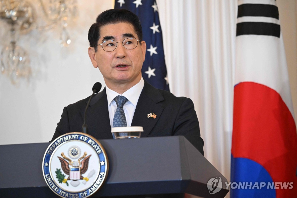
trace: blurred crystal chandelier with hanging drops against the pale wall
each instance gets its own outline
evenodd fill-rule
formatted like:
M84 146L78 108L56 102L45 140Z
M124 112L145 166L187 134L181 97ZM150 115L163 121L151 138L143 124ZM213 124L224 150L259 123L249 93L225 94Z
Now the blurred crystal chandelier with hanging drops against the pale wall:
M37 5L36 8L33 5ZM26 50L17 44L20 35L33 29L45 31L60 27L60 45L67 47L71 40L66 28L76 17L76 0L0 0L0 19L10 27L8 43L1 41L1 73L7 75L12 84L18 84L22 78L29 80L32 69Z

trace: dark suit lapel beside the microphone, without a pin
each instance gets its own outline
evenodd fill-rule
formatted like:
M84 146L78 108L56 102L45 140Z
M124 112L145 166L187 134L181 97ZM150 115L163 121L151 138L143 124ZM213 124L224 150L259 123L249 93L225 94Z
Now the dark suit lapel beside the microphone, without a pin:
M84 110L82 116L83 114ZM92 98L87 110L86 124L91 136L97 139L112 139L105 88Z

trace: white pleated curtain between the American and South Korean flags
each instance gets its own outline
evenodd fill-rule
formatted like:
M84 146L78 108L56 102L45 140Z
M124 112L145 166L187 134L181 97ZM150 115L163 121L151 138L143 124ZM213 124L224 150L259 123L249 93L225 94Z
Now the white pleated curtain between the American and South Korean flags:
M205 157L230 179L236 0L159 0L170 91L193 100Z

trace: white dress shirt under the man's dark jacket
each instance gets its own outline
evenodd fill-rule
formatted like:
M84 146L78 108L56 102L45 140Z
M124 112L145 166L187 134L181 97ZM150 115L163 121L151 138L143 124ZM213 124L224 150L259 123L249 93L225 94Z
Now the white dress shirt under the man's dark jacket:
M116 101L113 99L116 96L125 96L128 101L124 104L123 109L126 116L127 126L131 126L133 115L136 109L136 105L141 94L141 91L144 86L144 80L141 77L139 83L134 85L133 87L129 88L123 94L119 94L106 86L106 95L107 95L107 104L108 104L108 113L109 113L109 120L110 120L110 127L113 127L113 117L116 113Z

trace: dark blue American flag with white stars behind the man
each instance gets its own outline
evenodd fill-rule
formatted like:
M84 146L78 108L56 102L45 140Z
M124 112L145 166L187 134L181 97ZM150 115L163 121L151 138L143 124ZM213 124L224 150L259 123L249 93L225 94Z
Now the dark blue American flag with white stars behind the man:
M157 2L155 0L115 0L114 7L130 10L138 16L147 48L146 60L141 69L142 77L155 88L169 91Z

